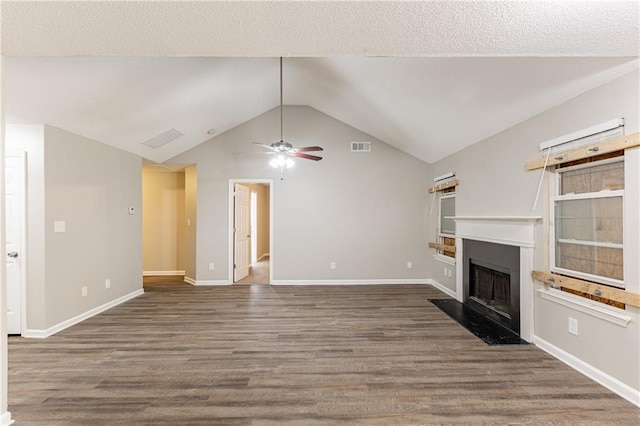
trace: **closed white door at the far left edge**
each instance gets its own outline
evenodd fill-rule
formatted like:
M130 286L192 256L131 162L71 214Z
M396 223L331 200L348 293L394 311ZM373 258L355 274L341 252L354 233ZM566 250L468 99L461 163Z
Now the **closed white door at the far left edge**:
M24 156L5 157L5 215L7 243L7 331L22 333L22 261L21 247L24 217Z

